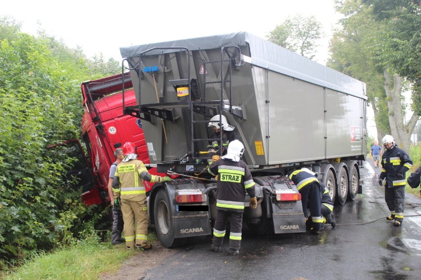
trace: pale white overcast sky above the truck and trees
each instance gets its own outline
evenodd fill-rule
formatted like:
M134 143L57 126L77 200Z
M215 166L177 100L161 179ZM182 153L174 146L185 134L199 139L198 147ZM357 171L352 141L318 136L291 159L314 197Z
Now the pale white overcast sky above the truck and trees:
M332 26L339 15L333 0L7 0L0 16L22 22L22 31L40 28L81 46L87 57L102 53L121 61L122 46L246 31L265 37L288 16L314 15L324 37L315 60L325 64Z

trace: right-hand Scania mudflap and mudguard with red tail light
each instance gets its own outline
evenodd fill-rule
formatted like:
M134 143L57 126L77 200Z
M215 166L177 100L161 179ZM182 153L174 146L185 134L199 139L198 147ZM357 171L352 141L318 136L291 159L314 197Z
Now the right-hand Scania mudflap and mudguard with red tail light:
M267 211L272 218L274 233L305 232L301 194L287 176L253 177L265 192Z

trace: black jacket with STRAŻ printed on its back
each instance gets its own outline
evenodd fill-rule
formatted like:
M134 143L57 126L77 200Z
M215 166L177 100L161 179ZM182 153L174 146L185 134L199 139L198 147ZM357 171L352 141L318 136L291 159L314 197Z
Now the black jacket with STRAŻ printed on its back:
M247 164L242 160L220 159L212 162L208 171L218 175L216 209L243 212L246 192L255 197L255 183Z

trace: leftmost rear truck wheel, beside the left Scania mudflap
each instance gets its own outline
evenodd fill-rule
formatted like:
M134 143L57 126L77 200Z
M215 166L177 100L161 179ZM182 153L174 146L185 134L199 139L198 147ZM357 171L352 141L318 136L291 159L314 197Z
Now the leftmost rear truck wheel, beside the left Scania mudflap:
M184 245L186 239L174 238L174 226L168 201L167 193L160 190L155 198L154 217L155 228L161 244L166 248L172 248Z

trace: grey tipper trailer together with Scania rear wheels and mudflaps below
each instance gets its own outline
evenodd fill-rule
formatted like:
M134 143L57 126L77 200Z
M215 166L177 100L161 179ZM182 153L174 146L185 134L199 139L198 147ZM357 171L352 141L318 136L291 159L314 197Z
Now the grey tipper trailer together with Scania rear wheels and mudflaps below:
M244 221L256 233L305 231L299 197L281 198L298 193L287 177L294 169L316 172L337 204L362 192L365 83L246 32L120 50L138 102L125 111L142 119L151 166L184 178L154 185L149 196L164 245L211 234L216 183L206 151L217 114L245 146L259 203L246 207Z

